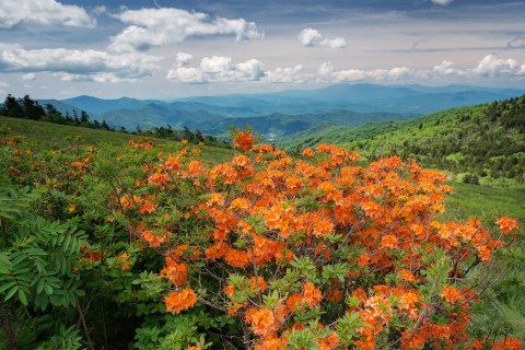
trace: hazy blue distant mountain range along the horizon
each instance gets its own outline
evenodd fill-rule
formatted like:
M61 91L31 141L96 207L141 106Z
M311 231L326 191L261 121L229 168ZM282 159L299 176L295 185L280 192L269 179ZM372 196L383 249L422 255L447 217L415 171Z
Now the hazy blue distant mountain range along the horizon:
M470 85L374 85L336 84L316 90L290 90L264 94L197 96L166 102L121 97L103 100L78 96L42 100L62 113L85 110L92 119L133 130L171 125L220 135L231 125L250 124L273 140L331 122L359 126L405 120L452 107L505 100L524 91Z

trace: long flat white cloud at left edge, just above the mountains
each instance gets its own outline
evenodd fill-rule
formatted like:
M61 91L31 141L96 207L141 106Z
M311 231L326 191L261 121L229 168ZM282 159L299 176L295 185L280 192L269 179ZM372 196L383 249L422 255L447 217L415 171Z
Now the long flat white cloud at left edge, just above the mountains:
M69 81L136 80L152 75L160 60L162 57L143 54L112 55L66 48L26 50L20 45L0 45L0 71L56 72Z

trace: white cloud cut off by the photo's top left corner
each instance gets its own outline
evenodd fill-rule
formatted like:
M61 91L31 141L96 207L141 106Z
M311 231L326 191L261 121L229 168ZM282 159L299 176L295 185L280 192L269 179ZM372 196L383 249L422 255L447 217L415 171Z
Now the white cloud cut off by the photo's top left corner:
M2 0L0 2L0 30L19 24L93 26L84 9L61 4L55 0Z

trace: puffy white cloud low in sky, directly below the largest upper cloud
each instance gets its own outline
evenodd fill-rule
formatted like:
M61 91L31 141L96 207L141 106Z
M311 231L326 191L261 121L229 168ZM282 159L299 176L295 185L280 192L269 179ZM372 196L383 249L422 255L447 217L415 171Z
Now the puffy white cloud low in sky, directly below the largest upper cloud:
M202 58L198 68L179 61L174 66L166 78L183 83L259 81L266 75L262 62L256 59L235 65L230 57L212 56Z

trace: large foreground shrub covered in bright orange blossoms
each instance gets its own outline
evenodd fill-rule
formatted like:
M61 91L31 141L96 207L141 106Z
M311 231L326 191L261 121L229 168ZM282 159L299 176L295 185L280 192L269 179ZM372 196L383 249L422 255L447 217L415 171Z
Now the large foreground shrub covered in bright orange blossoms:
M237 130L241 153L211 167L186 147L160 154L148 191L116 199L164 256L166 311L228 313L253 349L491 346L468 339L469 308L515 220L440 221L445 175L399 158L360 166L335 145L293 159L253 142Z

